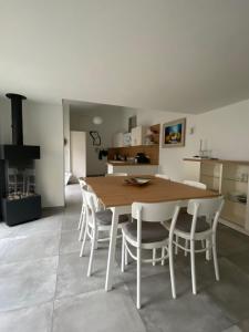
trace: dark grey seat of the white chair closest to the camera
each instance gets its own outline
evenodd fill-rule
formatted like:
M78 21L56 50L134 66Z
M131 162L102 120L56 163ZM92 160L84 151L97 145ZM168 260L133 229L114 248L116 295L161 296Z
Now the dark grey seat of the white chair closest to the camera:
M124 234L133 241L137 240L137 222L127 222L122 226ZM142 243L160 242L168 238L167 229L160 222L143 222L142 224Z

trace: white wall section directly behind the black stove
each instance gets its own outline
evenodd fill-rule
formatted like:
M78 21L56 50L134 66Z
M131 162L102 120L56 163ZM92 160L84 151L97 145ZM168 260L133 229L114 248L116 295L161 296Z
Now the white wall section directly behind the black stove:
M0 98L1 144L11 143L10 102ZM23 103L24 144L40 145L35 162L37 191L43 207L64 205L63 194L63 114L61 105L27 101Z

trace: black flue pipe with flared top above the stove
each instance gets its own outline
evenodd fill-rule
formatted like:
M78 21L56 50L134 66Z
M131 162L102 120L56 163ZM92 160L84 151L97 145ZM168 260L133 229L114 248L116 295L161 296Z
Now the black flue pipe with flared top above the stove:
M22 101L27 97L15 93L7 93L6 96L11 100L12 144L23 145Z

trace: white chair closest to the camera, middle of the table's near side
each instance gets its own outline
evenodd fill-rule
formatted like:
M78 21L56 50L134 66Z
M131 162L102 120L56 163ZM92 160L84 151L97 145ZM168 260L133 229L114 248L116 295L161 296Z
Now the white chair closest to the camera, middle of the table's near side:
M125 251L127 250L129 256L136 260L137 263L137 297L136 307L141 308L141 263L160 261L164 262L168 258L167 245L168 245L168 231L162 225L167 219L177 219L179 206L177 203L134 203L132 205L132 217L135 219L133 222L122 225L122 271L125 268ZM131 247L136 249L136 253L133 253ZM142 250L154 250L160 248L162 256L159 258L142 259ZM174 269L172 266L173 253L169 252L170 261L170 280L172 292L175 298L175 278Z

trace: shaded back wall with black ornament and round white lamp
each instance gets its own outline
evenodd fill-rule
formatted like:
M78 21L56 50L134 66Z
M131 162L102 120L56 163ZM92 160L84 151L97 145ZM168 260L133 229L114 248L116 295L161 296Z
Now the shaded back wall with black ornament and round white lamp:
M102 106L101 108L72 110L70 112L71 131L82 131L86 133L86 174L98 175L107 173L106 158L98 159L98 151L112 146L113 134L125 132L127 127L124 122L124 112L122 107ZM94 125L92 120L94 115L103 118L103 124ZM102 144L94 146L89 134L90 131L97 131Z

